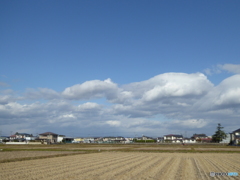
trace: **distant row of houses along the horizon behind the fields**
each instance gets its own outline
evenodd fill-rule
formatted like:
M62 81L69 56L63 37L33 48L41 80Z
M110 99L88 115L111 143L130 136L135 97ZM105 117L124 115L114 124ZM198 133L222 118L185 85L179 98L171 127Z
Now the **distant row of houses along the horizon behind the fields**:
M0 139L1 140L1 139ZM27 133L15 133L8 137L9 141L40 141L42 143L132 143L132 142L158 142L158 143L210 143L211 136L206 134L193 134L191 138L184 138L178 134L168 134L164 137L152 138L148 136L125 138L122 136L107 136L107 137L66 137L52 132L45 132L35 137ZM220 143L239 144L240 143L240 129L227 134L227 138Z

